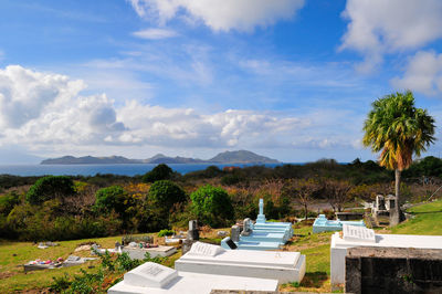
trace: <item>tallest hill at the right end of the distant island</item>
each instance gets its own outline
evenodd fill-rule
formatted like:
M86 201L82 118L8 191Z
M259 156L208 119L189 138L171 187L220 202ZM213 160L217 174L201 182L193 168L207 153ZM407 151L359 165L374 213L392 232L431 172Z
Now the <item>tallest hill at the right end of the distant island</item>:
M209 159L213 164L278 164L276 159L261 156L248 150L225 151Z

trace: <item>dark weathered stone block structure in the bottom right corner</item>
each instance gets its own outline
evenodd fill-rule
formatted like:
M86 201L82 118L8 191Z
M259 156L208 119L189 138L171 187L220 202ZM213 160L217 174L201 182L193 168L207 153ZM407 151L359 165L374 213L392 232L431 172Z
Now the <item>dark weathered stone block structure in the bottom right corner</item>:
M350 293L442 293L442 250L351 248L345 280Z

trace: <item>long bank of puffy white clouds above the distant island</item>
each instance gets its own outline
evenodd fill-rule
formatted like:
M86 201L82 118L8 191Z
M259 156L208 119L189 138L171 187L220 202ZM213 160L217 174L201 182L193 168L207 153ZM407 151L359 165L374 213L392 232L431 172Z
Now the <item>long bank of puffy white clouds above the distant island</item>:
M250 146L277 141L308 126L308 119L254 111L200 114L128 99L122 107L105 94L82 96L83 81L19 65L0 71L1 144L48 149L63 146ZM55 148L55 147L54 147Z

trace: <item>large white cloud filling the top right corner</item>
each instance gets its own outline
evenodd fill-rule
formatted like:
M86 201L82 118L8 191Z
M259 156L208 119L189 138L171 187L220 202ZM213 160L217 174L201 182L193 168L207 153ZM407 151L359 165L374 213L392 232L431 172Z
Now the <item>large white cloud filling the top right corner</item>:
M361 71L370 71L386 53L419 49L442 36L440 0L348 0L349 20L340 49L365 55Z

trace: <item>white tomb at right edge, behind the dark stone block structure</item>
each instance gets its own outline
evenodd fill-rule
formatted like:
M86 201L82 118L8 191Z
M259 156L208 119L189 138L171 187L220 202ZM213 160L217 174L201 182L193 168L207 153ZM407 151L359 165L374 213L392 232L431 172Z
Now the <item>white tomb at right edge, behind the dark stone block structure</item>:
M347 249L358 246L442 249L442 235L377 234L364 227L344 224L343 235L332 235L332 285L345 283Z

